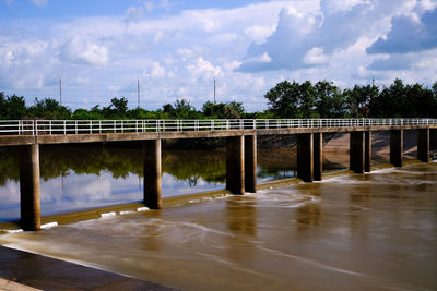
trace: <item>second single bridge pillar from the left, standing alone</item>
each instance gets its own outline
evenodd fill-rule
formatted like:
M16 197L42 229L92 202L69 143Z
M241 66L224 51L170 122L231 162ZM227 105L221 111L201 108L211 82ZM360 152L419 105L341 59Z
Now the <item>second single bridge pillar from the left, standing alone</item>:
M161 209L162 178L161 178L161 140L143 141L144 159L144 205L150 209Z

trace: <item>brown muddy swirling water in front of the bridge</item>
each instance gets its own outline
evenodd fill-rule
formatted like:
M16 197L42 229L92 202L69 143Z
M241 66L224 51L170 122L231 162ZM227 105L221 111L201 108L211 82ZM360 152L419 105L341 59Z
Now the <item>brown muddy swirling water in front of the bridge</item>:
M437 163L3 234L0 244L184 290L436 290Z

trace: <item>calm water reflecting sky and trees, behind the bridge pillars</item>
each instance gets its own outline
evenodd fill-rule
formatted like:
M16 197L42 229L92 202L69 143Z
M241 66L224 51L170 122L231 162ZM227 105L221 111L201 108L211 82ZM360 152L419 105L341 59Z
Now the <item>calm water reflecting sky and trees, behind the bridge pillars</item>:
M259 150L258 181L295 175L287 149ZM0 147L0 221L20 217L20 173L15 148ZM139 148L40 146L42 215L142 201L143 162ZM327 170L347 167L326 159ZM225 187L224 149L163 150L163 196Z

